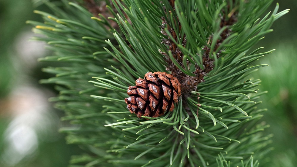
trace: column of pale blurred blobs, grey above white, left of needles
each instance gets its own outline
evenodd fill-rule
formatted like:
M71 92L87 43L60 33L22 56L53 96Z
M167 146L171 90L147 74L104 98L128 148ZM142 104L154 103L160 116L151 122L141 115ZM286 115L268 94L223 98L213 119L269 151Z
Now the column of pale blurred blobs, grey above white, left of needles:
M22 160L36 155L39 142L59 138L59 117L49 111L51 93L24 86L31 82L26 73L37 65L37 58L46 53L45 42L29 42L33 35L36 36L30 30L20 33L14 44L17 54L12 52L17 55L12 58L18 76L13 76L14 90L8 97L8 110L13 119L4 132L4 151L0 154L0 164L6 166L19 166Z

